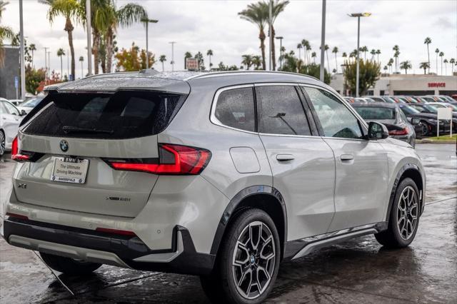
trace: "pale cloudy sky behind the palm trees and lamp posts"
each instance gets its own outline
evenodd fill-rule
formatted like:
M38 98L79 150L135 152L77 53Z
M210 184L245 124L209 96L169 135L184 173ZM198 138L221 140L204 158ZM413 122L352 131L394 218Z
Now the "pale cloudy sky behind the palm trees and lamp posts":
M9 0L2 24L19 31L19 0ZM143 5L151 19L159 19L158 24L149 27L149 50L158 57L166 55L165 69L171 69L171 45L176 41L175 69L184 68L184 52L192 54L208 49L214 51L212 62L217 65L240 65L241 54L260 54L258 30L256 26L243 21L237 13L252 1L152 1L116 0L117 6L128 2ZM46 19L48 7L37 0L24 0L24 32L28 44L36 44L35 66L44 66L44 46L51 50L51 69L60 69L56 56L59 48L68 49L68 39L64 31L64 19L57 19L52 26ZM456 0L390 0L390 1L348 1L328 0L326 14L326 44L333 49L338 46L338 64L341 64L343 51L350 53L356 48L357 22L347 16L351 12L369 11L373 15L361 19L361 46L381 50L381 64L384 66L393 57L392 47L400 47L400 61L409 60L413 72L421 73L419 64L427 61L426 45L423 40L431 37L431 71L436 71L435 49L443 51L443 59L457 59L457 1ZM75 26L74 46L76 59L86 57L86 34L79 24ZM296 45L301 39L311 42L313 51L318 53L321 37L321 1L291 0L275 24L276 34L283 36L283 46L298 54ZM128 48L132 42L141 48L146 47L145 29L140 24L126 29L118 29L117 41L120 47ZM278 46L277 46L278 48ZM369 56L369 55L368 55ZM335 59L329 53L330 67L334 69ZM438 61L439 61L438 57ZM205 56L205 64L208 66ZM86 65L86 62L85 62ZM155 65L161 70L161 64ZM76 76L81 75L81 65L76 61ZM84 67L86 70L86 66ZM84 71L86 73L86 71ZM403 71L404 73L404 71ZM411 71L410 71L411 73ZM438 73L441 64L438 62ZM443 67L444 73L444 67ZM64 74L66 60L64 59ZM447 67L451 74L451 67Z

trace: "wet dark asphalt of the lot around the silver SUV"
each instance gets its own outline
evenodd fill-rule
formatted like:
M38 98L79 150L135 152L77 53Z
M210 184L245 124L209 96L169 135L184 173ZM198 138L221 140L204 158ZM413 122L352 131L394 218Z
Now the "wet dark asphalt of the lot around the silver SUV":
M426 168L426 208L416 239L387 250L372 236L281 264L270 303L457 303L456 145L418 144ZM6 156L8 157L8 156ZM0 199L14 163L0 163ZM102 266L59 278L30 250L0 239L0 303L208 303L199 278Z

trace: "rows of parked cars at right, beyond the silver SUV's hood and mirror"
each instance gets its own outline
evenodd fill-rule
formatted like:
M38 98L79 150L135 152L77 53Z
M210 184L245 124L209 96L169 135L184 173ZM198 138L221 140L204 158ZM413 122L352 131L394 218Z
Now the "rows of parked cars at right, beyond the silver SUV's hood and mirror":
M417 136L431 136L438 128L438 108L451 108L457 132L457 101L450 96L344 97L366 121L384 123L389 135L414 146ZM440 133L451 131L451 120L439 122Z

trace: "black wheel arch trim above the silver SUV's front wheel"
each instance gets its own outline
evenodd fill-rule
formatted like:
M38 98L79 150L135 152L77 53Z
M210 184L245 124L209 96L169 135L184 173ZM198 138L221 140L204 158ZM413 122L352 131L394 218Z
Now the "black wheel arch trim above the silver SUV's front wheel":
M425 181L423 181L421 169L414 163L406 163L403 165L397 173L395 181L393 182L393 187L391 191L391 196L388 201L388 208L386 214L386 221L388 222L391 216L391 208L393 205L393 200L395 199L395 194L398 188L398 185L403 181L405 178L411 178L419 190L419 203L420 203L420 211L421 215L423 212L423 207L425 204Z

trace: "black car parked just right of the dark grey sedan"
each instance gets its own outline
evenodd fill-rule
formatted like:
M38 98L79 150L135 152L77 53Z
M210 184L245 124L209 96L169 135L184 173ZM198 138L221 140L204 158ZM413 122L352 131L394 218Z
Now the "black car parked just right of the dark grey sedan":
M435 113L421 113L418 109L405 103L398 103L398 107L405 113L411 124L414 126L418 124L421 127L421 136L436 134L438 115ZM451 121L440 121L440 133L448 133L449 131L451 131Z

